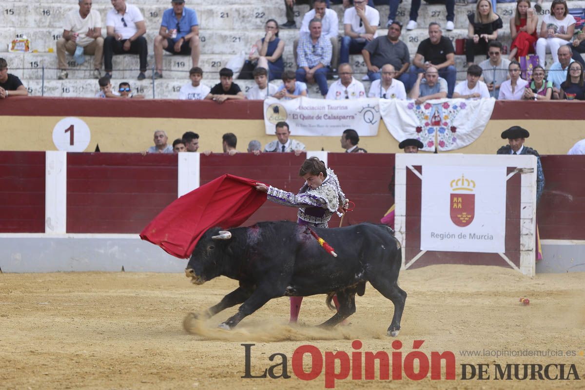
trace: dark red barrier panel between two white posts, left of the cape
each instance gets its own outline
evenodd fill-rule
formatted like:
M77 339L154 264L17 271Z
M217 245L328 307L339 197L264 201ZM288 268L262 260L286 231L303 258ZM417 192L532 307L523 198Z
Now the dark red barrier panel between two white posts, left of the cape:
M174 154L67 154L68 233L139 233L174 199Z

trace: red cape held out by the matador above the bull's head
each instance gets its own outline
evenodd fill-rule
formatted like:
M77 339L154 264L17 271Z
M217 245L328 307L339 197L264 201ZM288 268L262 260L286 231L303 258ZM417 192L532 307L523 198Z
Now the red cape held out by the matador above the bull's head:
M239 226L266 201L256 181L225 174L178 198L140 233L140 238L178 258L188 258L210 227Z

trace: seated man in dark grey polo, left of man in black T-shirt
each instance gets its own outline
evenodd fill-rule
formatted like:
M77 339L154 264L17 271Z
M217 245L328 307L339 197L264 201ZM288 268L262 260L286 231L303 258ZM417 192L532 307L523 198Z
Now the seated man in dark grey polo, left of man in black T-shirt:
M380 69L386 64L391 64L396 71L394 78L402 81L404 88L409 91L411 87L408 75L410 54L408 46L400 40L401 32L400 22L392 22L388 27L387 36L377 37L368 43L362 50L362 56L370 81L378 80L381 77Z

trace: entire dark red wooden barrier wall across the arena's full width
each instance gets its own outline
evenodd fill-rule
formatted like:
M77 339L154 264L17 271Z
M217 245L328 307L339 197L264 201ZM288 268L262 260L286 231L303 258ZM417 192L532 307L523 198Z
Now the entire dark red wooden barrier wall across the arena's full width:
M302 185L298 168L304 158L304 154L201 156L201 184L229 172L295 192ZM388 190L394 154L329 153L328 159L347 198L356 203L343 225L378 222L394 202ZM0 151L0 232L44 232L44 160L44 152ZM543 156L542 165L546 186L537 213L541 238L584 240L585 156ZM69 153L67 166L70 233L138 233L177 196L174 155ZM509 186L514 183L508 181ZM519 194L508 195L508 218L518 211L510 196ZM408 206L407 229L417 230L420 203L410 192L407 198L414 205ZM280 219L296 220L296 210L267 202L246 225ZM330 226L339 226L339 218L334 216ZM518 231L519 226L508 225L507 230Z

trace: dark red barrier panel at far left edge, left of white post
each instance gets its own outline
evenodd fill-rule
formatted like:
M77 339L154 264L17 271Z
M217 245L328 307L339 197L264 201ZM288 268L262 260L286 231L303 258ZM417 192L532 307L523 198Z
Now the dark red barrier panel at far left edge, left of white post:
M0 152L0 233L44 233L44 156Z

